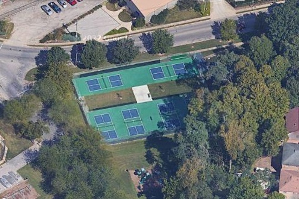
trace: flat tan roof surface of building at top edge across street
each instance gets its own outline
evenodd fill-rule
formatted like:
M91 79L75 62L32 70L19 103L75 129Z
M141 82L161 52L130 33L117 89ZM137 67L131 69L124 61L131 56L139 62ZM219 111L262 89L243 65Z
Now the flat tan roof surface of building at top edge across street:
M132 0L140 12L147 16L158 8L172 2L173 0ZM155 13L158 14L158 13Z

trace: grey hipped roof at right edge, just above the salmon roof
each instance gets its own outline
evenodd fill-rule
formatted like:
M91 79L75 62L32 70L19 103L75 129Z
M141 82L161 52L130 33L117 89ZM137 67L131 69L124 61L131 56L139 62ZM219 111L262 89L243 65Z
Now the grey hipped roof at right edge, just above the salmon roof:
M299 166L299 144L285 143L283 145L282 164Z

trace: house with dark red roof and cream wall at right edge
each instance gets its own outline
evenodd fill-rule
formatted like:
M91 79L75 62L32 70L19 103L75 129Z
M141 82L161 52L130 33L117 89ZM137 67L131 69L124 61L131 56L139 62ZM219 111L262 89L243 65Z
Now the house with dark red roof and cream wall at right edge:
M290 109L286 114L286 129L289 131L287 142L299 143L299 107Z

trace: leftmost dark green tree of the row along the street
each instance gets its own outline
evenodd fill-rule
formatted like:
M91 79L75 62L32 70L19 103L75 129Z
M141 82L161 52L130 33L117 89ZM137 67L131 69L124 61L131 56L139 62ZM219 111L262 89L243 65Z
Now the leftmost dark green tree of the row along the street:
M47 65L67 63L70 60L69 54L59 46L52 47L47 53Z

